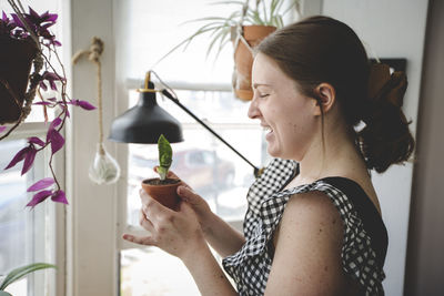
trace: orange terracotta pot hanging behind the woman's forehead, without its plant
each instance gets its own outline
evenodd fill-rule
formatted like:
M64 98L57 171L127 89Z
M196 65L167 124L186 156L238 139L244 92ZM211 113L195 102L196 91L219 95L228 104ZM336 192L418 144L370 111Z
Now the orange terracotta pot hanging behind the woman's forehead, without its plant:
M265 37L276 30L272 25L243 25L243 37L251 48L258 45ZM235 41L235 27L232 28L232 41ZM235 45L235 44L234 44ZM251 89L251 68L253 65L253 54L250 49L240 40L234 49L234 73L233 90L234 95L241 100L250 101L253 98Z

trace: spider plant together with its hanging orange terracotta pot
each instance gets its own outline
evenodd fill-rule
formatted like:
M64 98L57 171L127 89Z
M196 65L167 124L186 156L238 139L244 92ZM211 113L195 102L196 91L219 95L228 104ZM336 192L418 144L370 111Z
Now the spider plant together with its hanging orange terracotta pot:
M284 8L286 3L287 7ZM266 35L284 25L283 17L285 14L292 10L299 13L300 0L230 0L214 2L214 4L230 4L236 8L226 18L205 17L192 20L191 22L202 23L202 27L164 54L159 62L179 48L186 49L188 44L199 35L210 35L206 54L215 50L215 58L231 41L234 47L232 78L234 94L241 100L251 100L253 98L251 89L252 49Z

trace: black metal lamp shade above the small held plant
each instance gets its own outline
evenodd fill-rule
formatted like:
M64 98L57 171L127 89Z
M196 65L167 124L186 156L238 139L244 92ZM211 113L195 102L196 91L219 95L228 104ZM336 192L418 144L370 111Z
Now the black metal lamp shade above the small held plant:
M183 141L180 122L158 105L155 92L141 92L138 104L114 119L109 139L123 143L154 144L161 134L170 143Z

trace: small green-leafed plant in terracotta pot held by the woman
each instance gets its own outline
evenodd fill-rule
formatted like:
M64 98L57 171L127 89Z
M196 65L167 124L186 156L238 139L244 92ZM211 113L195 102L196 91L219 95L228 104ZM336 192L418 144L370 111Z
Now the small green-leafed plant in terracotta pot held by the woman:
M168 177L173 159L173 150L163 134L159 136L158 149L159 166L157 172L159 177L143 180L142 188L159 203L175 211L180 202L178 187L182 182L179 178Z

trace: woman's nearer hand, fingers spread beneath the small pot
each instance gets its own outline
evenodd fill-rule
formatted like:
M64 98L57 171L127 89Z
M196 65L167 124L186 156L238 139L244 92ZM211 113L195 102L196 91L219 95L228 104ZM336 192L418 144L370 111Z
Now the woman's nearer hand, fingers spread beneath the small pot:
M140 191L140 197L142 201L140 225L151 234L147 236L124 234L124 239L160 247L181 259L192 256L196 249L206 247L198 216L188 203L181 202L179 211L175 212L157 202L143 190Z

